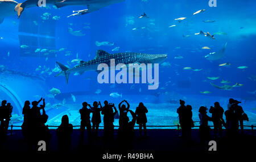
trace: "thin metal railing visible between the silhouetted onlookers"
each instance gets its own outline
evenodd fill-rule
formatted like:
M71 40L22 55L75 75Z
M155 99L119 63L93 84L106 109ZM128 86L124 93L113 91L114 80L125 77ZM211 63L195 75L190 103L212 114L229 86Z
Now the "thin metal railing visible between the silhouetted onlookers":
M210 127L213 127L213 125L209 125ZM13 127L22 127L22 126L17 126L17 125L10 125L11 127L11 135L13 135ZM47 127L59 127L59 126L49 126L47 125ZM80 125L75 125L73 127L80 127ZM99 127L104 127L104 126L99 126ZM114 127L119 127L119 126L114 126ZM139 126L134 126L134 127L139 127ZM177 133L178 135L180 134L180 125L147 125L147 127L177 127ZM200 126L194 126L194 127L200 127ZM251 133L252 135L254 135L254 125L243 125L243 127L251 127Z

